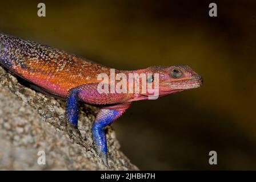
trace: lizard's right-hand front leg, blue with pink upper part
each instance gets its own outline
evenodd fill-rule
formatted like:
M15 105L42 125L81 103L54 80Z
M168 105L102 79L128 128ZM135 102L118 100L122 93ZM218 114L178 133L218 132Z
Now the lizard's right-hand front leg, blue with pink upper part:
M105 127L110 125L115 119L120 117L122 113L130 106L130 103L119 104L116 106L103 107L99 110L97 117L93 123L92 134L95 149L101 156L105 166L107 165L107 142L105 135Z

